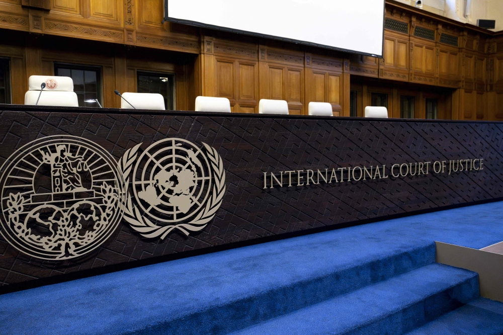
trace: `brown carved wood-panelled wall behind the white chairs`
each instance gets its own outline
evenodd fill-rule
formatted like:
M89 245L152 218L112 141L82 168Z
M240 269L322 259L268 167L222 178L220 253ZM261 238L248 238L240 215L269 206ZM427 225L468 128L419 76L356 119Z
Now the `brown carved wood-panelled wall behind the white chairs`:
M291 114L307 114L314 101L350 116L353 99L363 116L374 96L400 117L401 98L412 97L418 119L434 99L440 119L503 120L503 35L393 0L386 1L383 59L162 19L163 0L0 0L10 102L24 102L30 75L54 75L55 63L71 63L101 68L104 107L120 106L116 89L137 92L138 71L155 71L176 75L178 110L209 96L228 98L240 113L279 99Z

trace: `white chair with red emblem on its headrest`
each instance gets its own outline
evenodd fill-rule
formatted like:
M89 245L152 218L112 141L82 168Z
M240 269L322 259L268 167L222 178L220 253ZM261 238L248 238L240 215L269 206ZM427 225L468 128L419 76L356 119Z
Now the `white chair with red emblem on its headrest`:
M41 85L45 88L40 94ZM28 78L28 92L25 94L25 105L78 107L78 99L73 92L73 80L70 77L31 75Z

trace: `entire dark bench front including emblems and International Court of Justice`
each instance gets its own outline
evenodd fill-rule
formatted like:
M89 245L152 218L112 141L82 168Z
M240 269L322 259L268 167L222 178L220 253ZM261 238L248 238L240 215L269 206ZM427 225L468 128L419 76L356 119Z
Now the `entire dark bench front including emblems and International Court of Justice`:
M4 289L503 193L497 122L73 111L0 115Z

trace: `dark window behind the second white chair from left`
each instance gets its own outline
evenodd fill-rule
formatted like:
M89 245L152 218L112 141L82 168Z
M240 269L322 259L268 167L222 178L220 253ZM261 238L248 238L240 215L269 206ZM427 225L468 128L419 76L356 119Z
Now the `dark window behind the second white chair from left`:
M138 71L138 93L158 93L164 97L166 110L175 108L175 75Z

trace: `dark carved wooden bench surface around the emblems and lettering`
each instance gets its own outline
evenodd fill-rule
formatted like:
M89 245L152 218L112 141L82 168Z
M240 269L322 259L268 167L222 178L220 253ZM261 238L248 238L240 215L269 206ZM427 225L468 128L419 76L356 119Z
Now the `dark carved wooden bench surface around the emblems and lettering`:
M48 111L48 112L43 112ZM0 112L0 164L44 136L79 136L115 159L165 138L216 149L226 192L215 217L186 236L144 238L122 220L93 252L62 261L29 257L0 238L0 286L70 272L184 253L238 241L356 223L363 219L503 197L503 124L470 121L384 120L194 112L171 114ZM117 113L117 114L115 114ZM264 173L382 166L483 158L475 172L263 189Z

